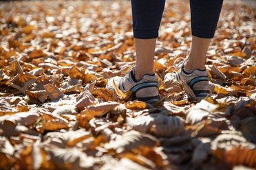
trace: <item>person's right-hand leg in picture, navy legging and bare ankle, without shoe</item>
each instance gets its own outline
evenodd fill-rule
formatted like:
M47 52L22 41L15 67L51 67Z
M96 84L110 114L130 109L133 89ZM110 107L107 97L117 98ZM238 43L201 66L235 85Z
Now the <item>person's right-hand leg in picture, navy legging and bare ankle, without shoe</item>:
M190 0L192 45L185 70L205 69L206 53L215 34L223 0Z

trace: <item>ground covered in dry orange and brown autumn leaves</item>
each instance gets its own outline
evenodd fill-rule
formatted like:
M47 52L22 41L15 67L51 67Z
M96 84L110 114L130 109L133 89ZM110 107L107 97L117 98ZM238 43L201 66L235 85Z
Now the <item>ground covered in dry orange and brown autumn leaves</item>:
M255 5L224 3L198 104L171 77L187 1L164 10L156 106L105 88L135 61L129 1L1 2L0 23L0 169L256 169Z

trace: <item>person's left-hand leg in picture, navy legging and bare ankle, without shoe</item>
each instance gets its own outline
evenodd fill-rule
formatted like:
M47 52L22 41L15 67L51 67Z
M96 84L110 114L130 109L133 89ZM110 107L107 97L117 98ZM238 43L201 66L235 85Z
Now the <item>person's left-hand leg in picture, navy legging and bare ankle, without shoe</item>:
M136 49L135 77L153 74L156 38L165 0L131 0Z

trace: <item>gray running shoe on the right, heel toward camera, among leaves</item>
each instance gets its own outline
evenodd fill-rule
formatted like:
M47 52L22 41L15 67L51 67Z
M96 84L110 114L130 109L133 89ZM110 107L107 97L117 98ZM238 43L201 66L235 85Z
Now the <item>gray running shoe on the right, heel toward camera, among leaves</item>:
M182 59L182 62L178 62ZM195 69L192 73L186 73L184 71L184 58L178 58L173 63L175 70L178 72L175 73L175 78L182 85L183 90L191 97L192 101L200 101L201 99L206 98L211 94L209 86L209 75L208 72L200 69Z

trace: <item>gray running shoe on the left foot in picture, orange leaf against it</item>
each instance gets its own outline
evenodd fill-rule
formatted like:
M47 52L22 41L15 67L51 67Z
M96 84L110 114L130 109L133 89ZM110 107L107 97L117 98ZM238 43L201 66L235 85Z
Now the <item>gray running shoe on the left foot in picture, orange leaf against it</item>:
M127 69L125 66L122 67L121 71ZM125 77L111 77L107 82L106 88L109 90L114 90L113 80L116 86L122 91L122 93L127 93L131 91L131 95L127 100L145 101L149 104L156 104L161 101L159 90L158 90L158 76L156 74L149 75L145 74L140 80L136 80L134 75L134 67L131 67L125 73Z

